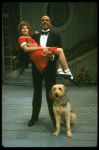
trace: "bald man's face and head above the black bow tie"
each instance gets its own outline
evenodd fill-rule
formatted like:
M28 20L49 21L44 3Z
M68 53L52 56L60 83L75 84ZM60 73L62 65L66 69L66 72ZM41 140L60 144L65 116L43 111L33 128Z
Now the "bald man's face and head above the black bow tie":
M43 16L41 18L41 24L40 25L42 26L42 29L44 31L46 31L47 29L49 29L50 26L51 26L50 18L48 16Z

